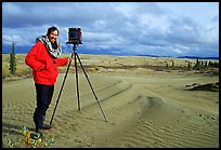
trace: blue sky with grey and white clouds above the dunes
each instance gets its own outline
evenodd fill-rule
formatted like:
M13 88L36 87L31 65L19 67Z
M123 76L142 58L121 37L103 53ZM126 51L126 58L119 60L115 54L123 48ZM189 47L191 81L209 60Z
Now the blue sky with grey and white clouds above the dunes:
M2 2L2 53L28 53L51 26L63 53L219 57L219 2Z

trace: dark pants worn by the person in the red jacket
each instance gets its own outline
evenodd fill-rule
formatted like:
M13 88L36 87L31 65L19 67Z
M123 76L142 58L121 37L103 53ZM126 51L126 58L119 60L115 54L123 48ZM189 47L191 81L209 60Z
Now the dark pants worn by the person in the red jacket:
M54 92L54 85L35 84L37 107L34 112L34 122L36 124L36 131L40 129L40 126L46 117L46 112L51 104L51 99Z

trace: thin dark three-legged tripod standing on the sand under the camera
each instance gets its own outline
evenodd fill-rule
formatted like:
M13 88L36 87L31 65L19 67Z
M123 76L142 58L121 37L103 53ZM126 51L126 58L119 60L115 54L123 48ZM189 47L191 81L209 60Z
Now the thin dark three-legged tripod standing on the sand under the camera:
M77 44L78 44L78 43L73 43L73 44L74 44L74 46L73 46L72 59L73 59L73 56L75 55L75 69L76 69L76 84L77 84L78 111L80 111L80 98L79 98L79 87L78 87L77 59L78 59L78 62L80 63L80 67L81 67L81 69L83 70L83 73L84 73L84 76L86 76L86 79L88 80L88 83L89 83L89 85L90 85L90 87L91 87L91 91L93 92L94 98L96 99L96 103L98 103L98 105L99 105L99 107L100 107L100 109L101 109L101 112L102 112L102 114L103 114L105 121L107 122L108 120L106 119L106 117L105 117L105 114L104 114L104 111L103 111L103 109L102 109L102 107L101 107L101 105L100 105L100 101L98 100L96 94L95 94L95 92L94 92L94 90L93 90L93 87L92 87L92 85L91 85L91 82L90 82L90 80L89 80L89 78L88 78L88 74L86 73L86 70L84 70L84 68L83 68L83 66L82 66L82 63L81 63L81 60L80 60L80 57L78 56L78 53L77 53ZM60 97L61 97L61 94L62 94L62 90L63 90L63 87L64 87L64 83L65 83L66 78L67 78L67 73L68 73L68 70L69 70L69 66L70 66L70 64L72 64L72 59L69 60L69 64L68 64L68 66L67 66L67 70L66 70L66 73L65 73L65 77L64 77L64 81L63 81L63 83L62 83L62 87L61 87L61 90L60 90L60 94L58 94L58 97L57 97L57 100L56 100L56 105L55 105L55 108L54 108L54 111L53 111L53 114L52 114L52 118L51 118L50 125L52 124L53 117L54 117L54 113L55 113L55 111L56 111L56 107L57 107L57 105L58 105L58 100L60 100Z

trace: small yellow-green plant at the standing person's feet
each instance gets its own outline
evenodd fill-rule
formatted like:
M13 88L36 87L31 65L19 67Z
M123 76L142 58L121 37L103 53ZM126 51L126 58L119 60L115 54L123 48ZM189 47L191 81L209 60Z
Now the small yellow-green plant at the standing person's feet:
M55 142L54 138L51 140L46 140L40 138L40 135L32 134L27 126L22 128L22 134L24 135L25 146L30 148L47 148Z

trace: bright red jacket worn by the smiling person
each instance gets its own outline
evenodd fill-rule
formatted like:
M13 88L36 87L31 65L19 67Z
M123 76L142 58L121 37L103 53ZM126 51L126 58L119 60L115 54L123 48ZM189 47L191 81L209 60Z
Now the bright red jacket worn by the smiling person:
M53 85L58 76L57 67L67 65L68 58L52 57L44 44L38 41L26 55L25 63L32 69L35 83Z

